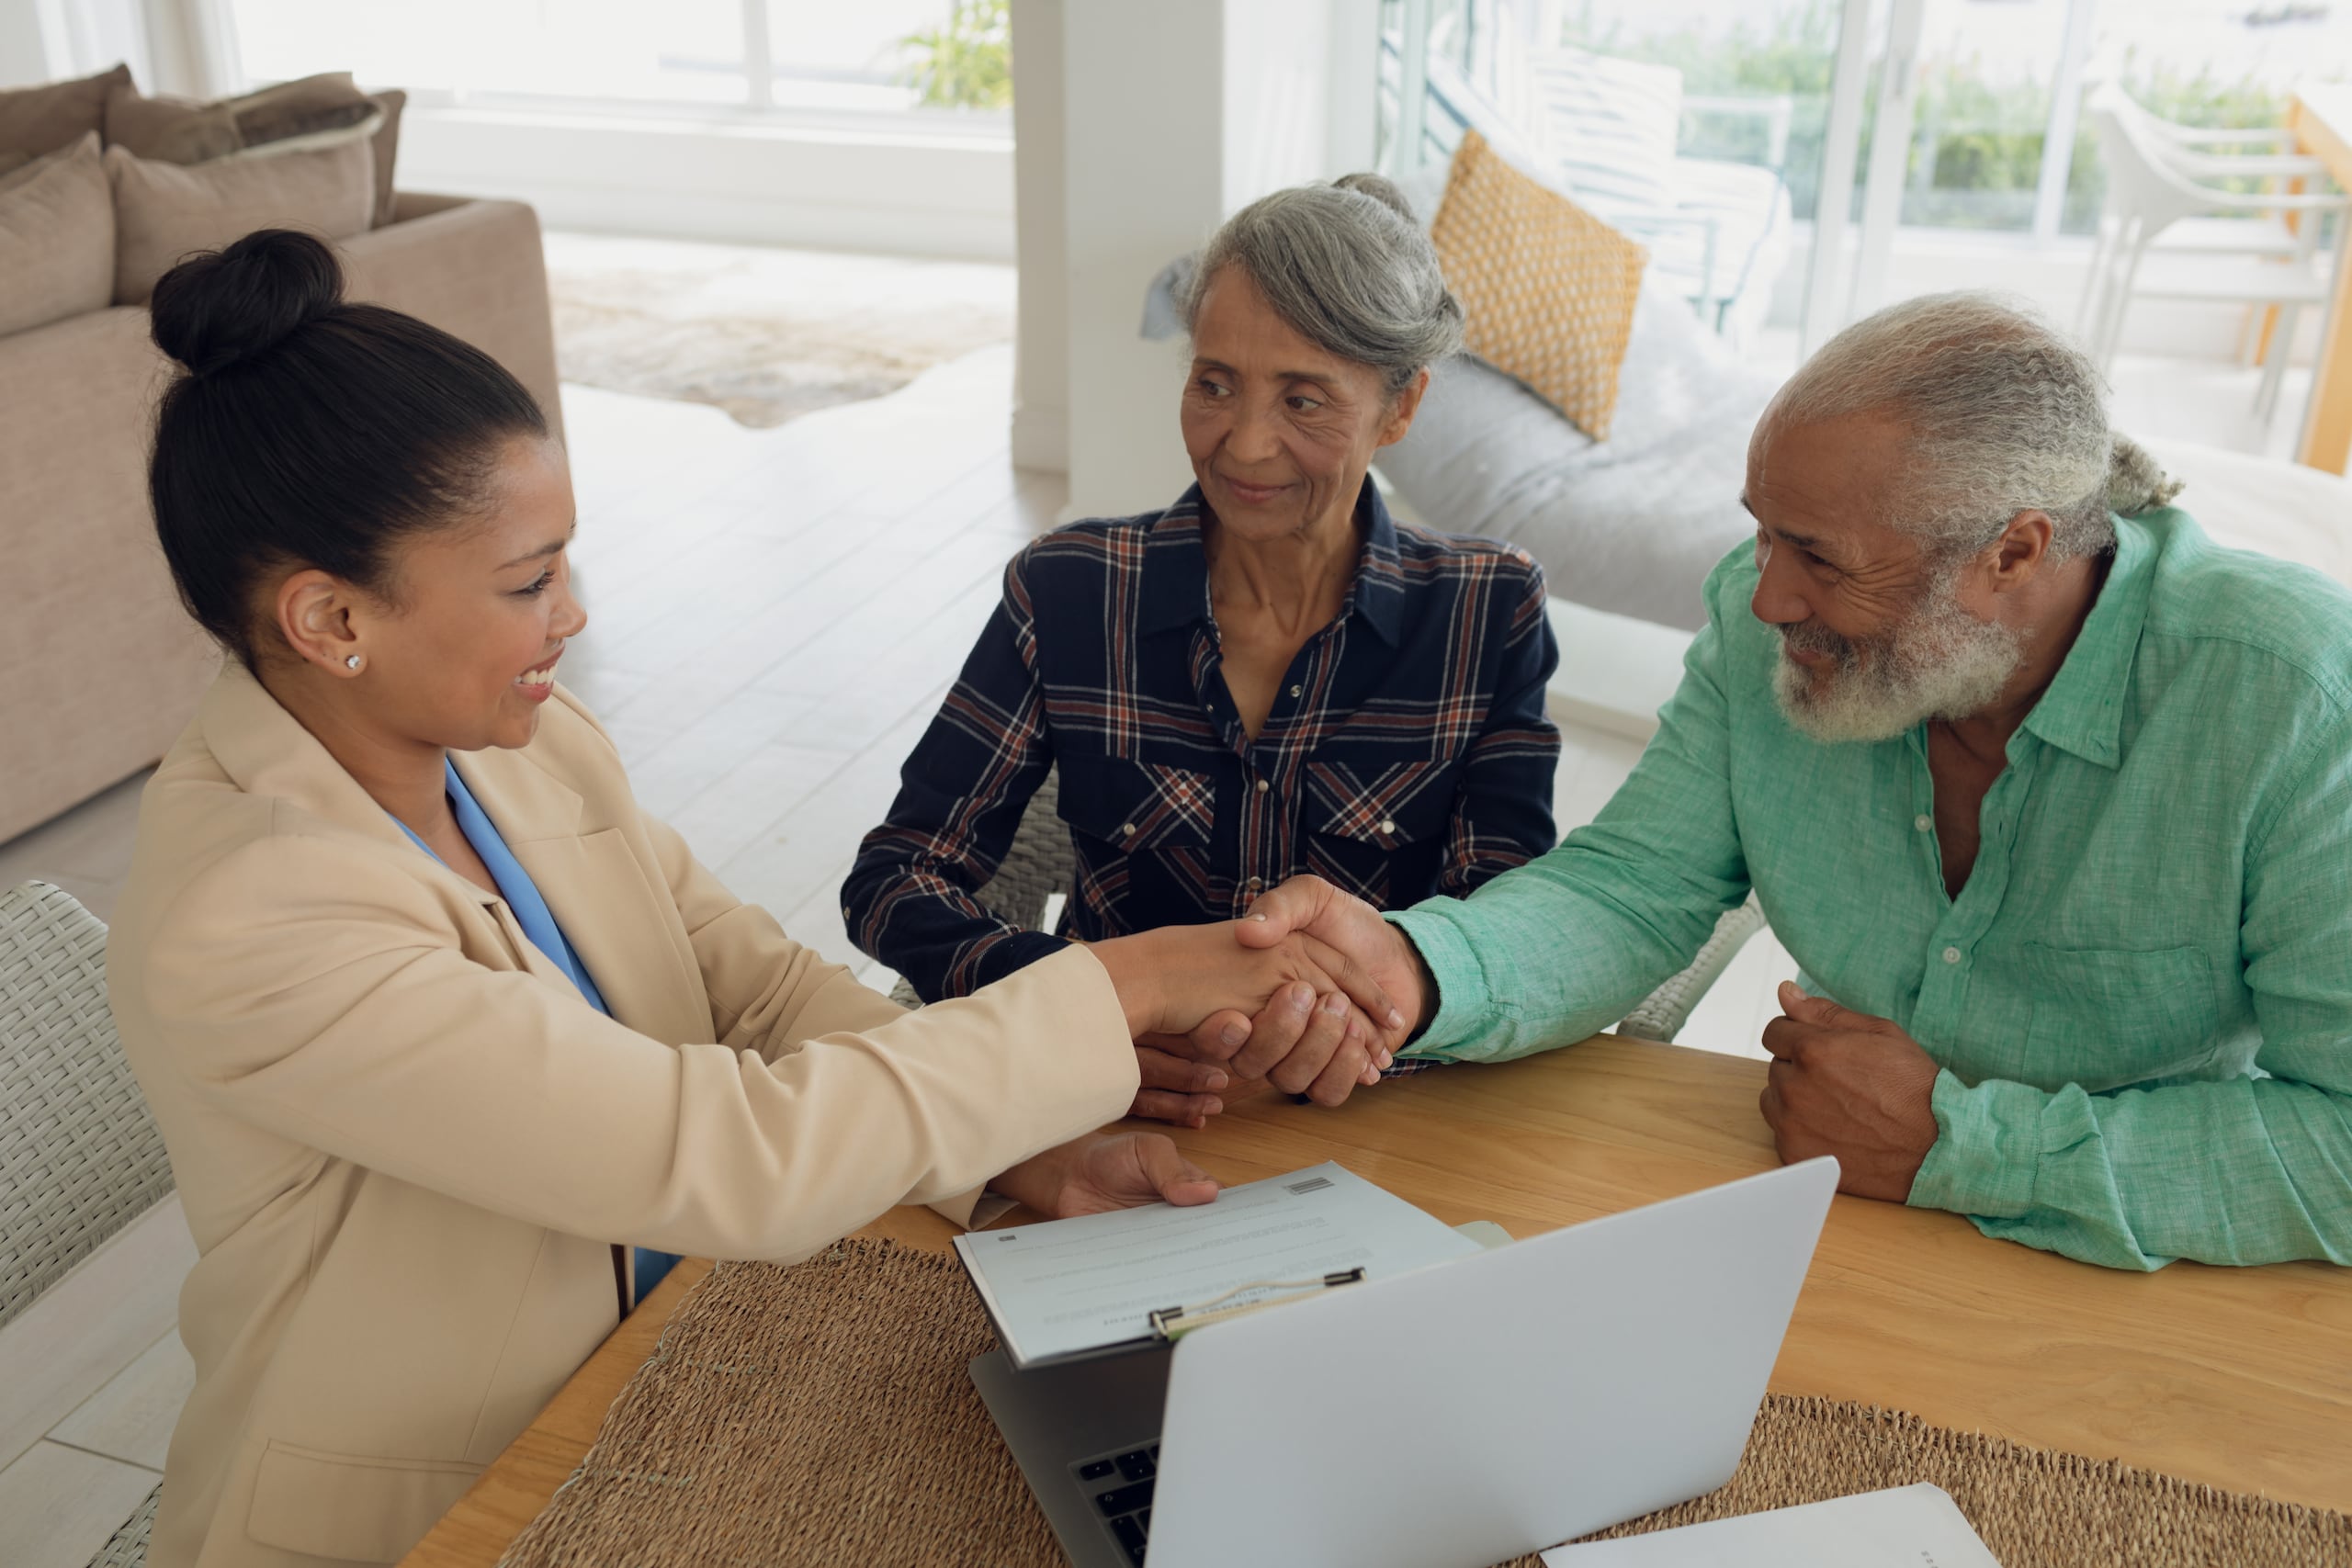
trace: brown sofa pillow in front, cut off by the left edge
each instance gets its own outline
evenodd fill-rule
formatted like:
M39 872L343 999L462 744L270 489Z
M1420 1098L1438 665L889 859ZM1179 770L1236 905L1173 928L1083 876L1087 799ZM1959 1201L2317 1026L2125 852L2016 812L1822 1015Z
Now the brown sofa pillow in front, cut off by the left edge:
M103 310L115 294L115 202L99 134L0 176L0 334Z

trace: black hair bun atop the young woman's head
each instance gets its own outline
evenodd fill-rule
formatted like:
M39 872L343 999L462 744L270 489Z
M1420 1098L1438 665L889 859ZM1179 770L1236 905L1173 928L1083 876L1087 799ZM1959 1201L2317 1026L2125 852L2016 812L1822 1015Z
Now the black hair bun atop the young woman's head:
M155 348L193 376L254 360L343 303L343 268L320 240L256 228L155 280Z

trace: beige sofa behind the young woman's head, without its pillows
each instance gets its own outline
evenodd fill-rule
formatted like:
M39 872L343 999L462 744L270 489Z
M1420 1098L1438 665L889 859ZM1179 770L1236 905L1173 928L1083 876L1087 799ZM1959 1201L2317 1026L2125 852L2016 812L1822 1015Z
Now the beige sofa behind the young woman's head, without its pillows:
M402 193L339 249L353 299L494 355L560 428L529 207ZM162 757L212 679L148 512L167 369L143 306L0 336L0 839Z

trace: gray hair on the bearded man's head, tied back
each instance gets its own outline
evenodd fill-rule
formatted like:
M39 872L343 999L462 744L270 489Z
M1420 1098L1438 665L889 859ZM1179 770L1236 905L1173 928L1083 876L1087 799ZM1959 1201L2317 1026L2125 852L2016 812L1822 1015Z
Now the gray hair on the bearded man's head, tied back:
M1936 555L1992 545L2025 510L2049 512L2051 555L2105 555L2110 512L2180 494L2107 425L2098 364L2030 303L1929 294L1863 317L1790 376L1766 421L1811 425L1889 414L1910 428L1907 498L1889 522Z

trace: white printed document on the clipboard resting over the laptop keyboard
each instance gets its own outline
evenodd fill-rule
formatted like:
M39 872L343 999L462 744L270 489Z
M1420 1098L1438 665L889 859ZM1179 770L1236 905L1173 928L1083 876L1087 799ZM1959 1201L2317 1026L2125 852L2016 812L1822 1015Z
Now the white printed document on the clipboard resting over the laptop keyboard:
M1352 1267L1367 1281L1388 1279L1465 1258L1479 1244L1327 1161L1225 1187L1214 1204L1192 1208L1152 1204L964 1232L955 1251L1004 1352L1028 1368L1152 1342L1150 1314L1162 1307L1200 1307L1240 1286L1319 1281ZM1291 1291L1237 1300L1251 1295L1277 1300Z

